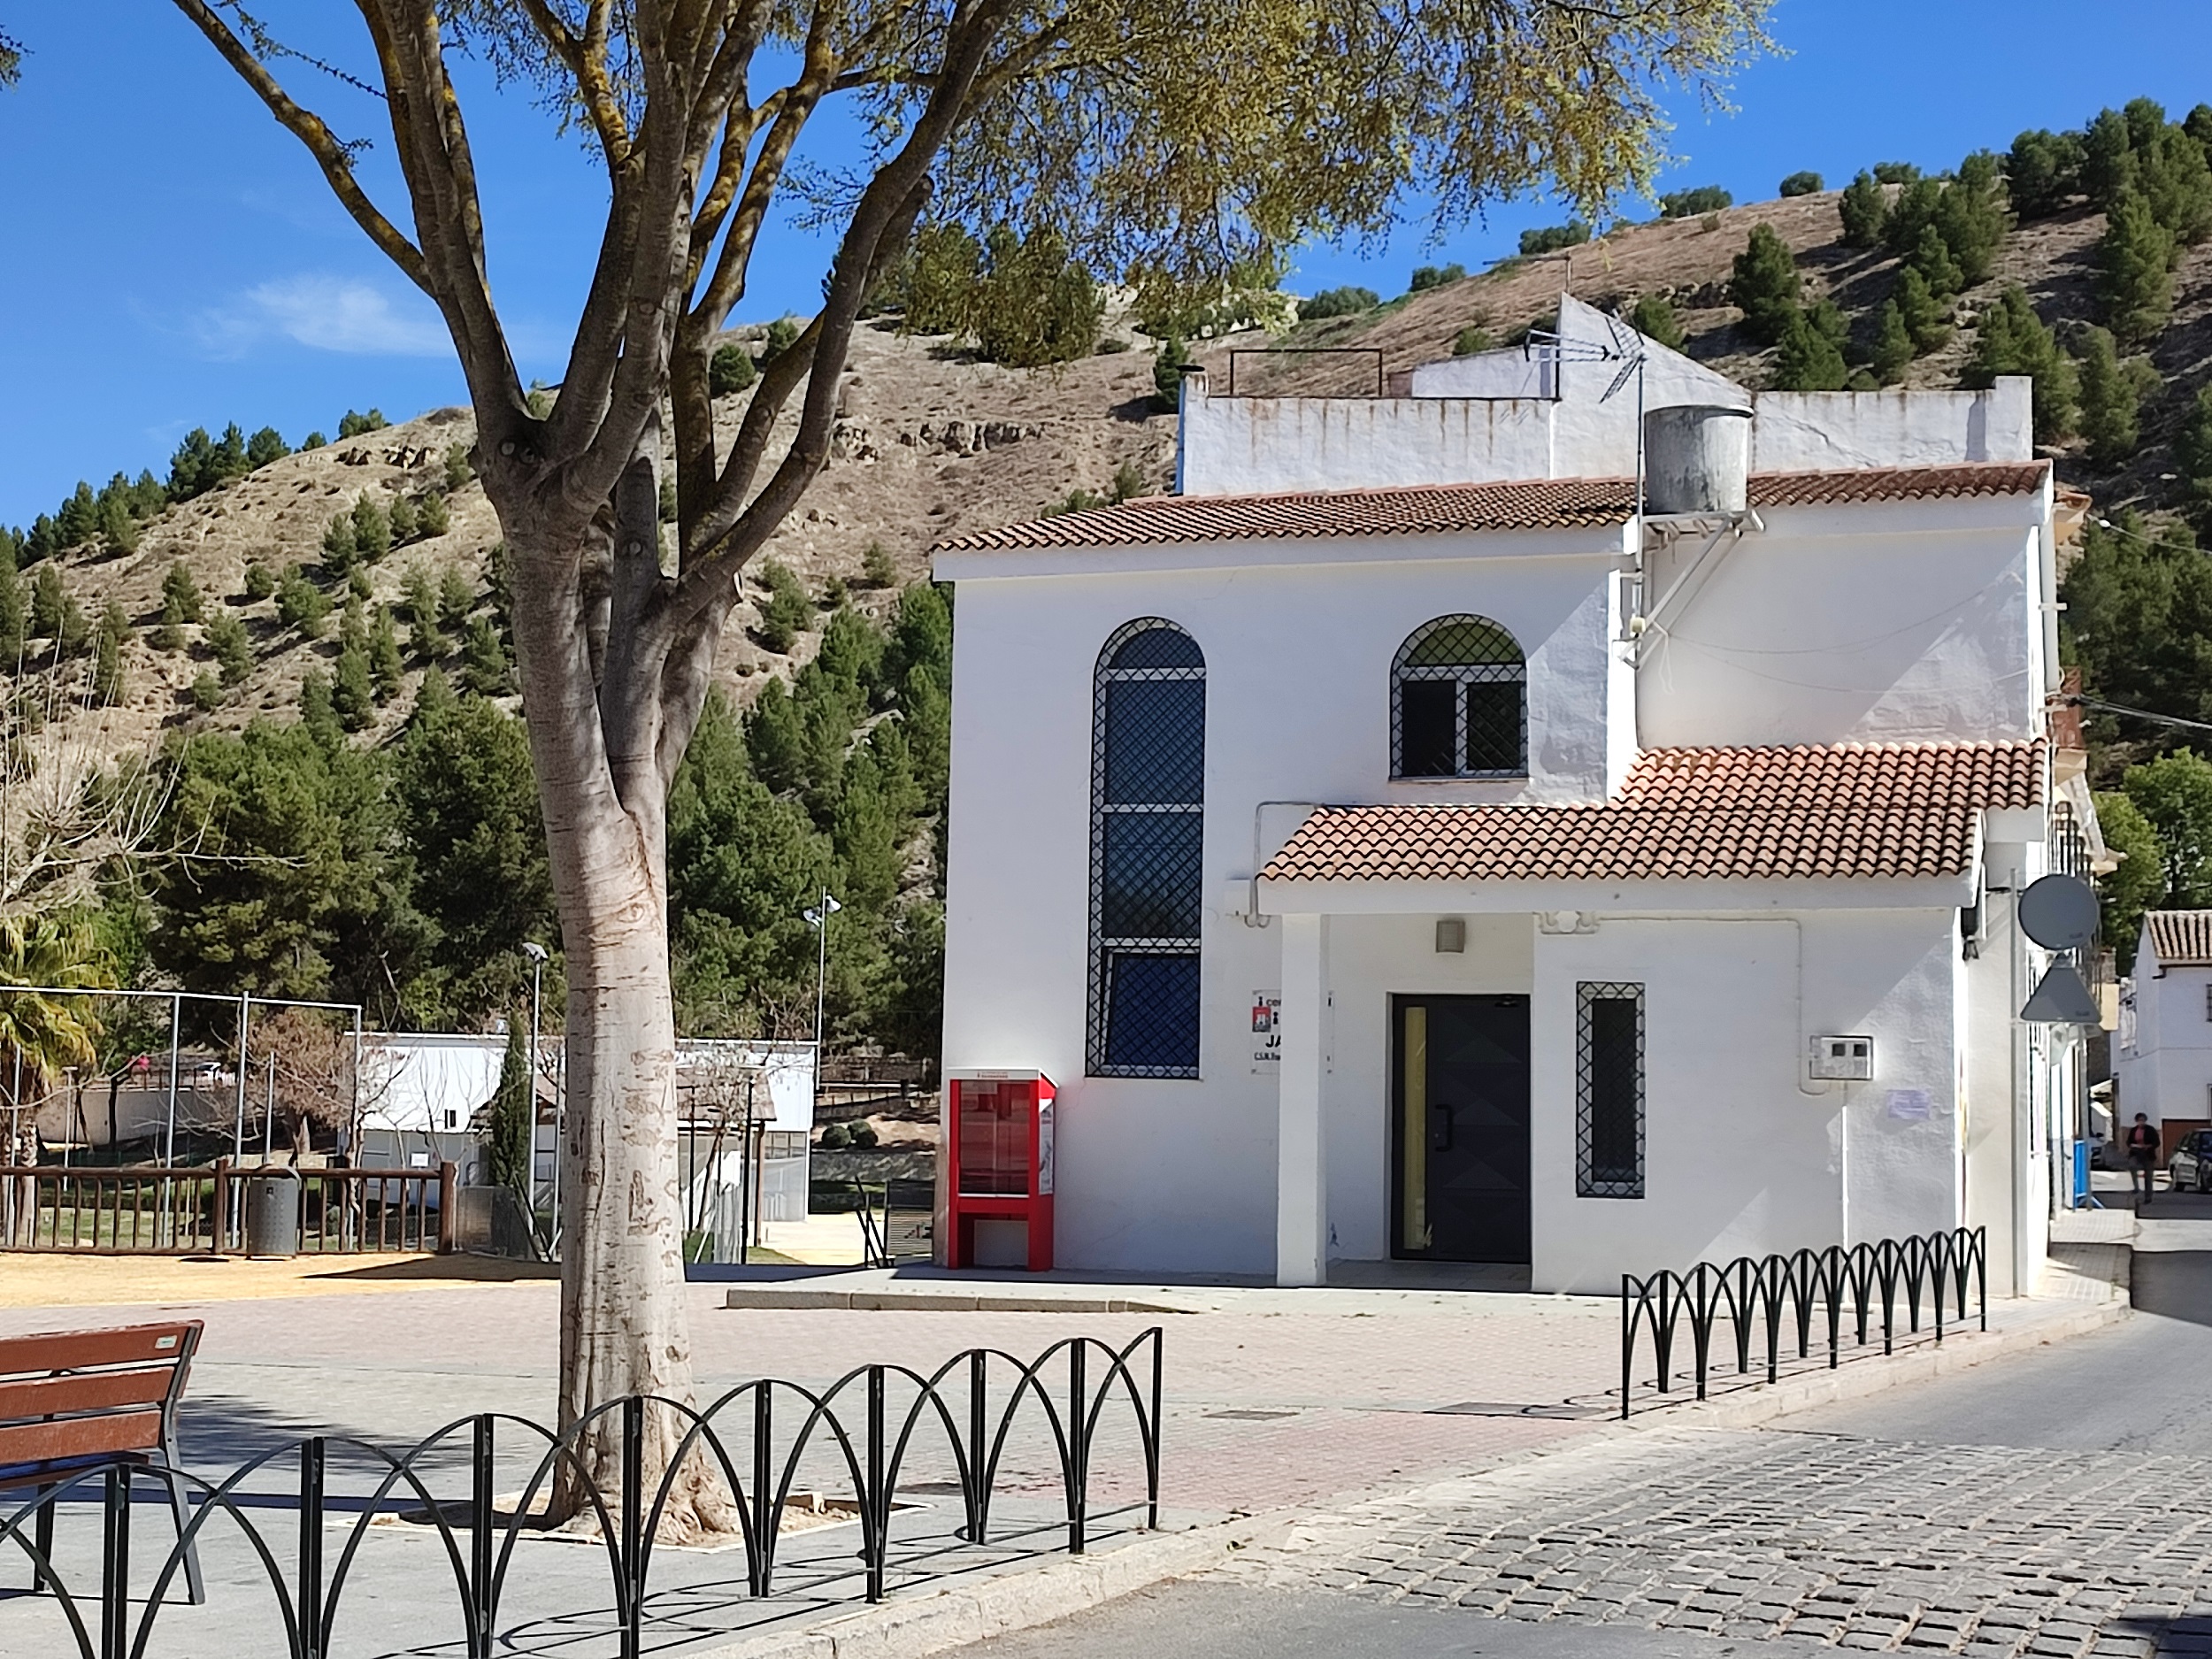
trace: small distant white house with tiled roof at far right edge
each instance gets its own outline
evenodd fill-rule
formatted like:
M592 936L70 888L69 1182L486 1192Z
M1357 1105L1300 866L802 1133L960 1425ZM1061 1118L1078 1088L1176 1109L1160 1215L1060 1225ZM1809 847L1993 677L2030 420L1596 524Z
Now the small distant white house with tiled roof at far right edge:
M2212 1128L2212 909L2143 916L2112 1040L2115 1137L2148 1113L2166 1146Z

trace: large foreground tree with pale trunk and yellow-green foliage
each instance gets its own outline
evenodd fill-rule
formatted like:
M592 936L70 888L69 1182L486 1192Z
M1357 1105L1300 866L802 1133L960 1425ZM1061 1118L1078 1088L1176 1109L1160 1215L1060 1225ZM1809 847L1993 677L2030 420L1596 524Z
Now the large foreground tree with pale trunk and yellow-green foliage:
M739 571L830 458L852 332L916 226L1053 226L1159 294L1407 204L1451 221L1544 188L1597 208L1650 184L1668 86L1714 97L1765 46L1770 0L354 0L354 58L292 49L241 0L175 4L438 305L476 411L568 969L566 1425L690 1389L666 796ZM551 405L487 279L460 58L606 173ZM374 197L367 137L310 108L303 75L385 128L403 199ZM841 104L863 164L803 166ZM821 310L721 429L717 336L792 197L834 234Z

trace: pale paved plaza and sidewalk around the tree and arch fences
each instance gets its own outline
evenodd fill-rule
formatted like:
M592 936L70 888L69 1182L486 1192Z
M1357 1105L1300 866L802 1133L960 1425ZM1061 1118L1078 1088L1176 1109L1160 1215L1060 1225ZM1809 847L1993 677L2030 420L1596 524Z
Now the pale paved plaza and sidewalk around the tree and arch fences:
M18 1261L24 1259L7 1265ZM73 1261L71 1267L77 1303L113 1303L100 1296L102 1279L142 1285L137 1274L146 1272L139 1263L113 1261ZM164 1267L173 1287L243 1290L250 1283L226 1276L226 1267L199 1270L208 1276L197 1281L181 1263ZM161 1296L157 1307L111 1305L95 1316L84 1307L7 1307L0 1332L124 1323L155 1312L206 1318L184 1416L186 1462L201 1471L228 1471L303 1433L396 1444L471 1411L551 1418L557 1285L524 1279L394 1287L394 1270L431 1272L434 1265L316 1267L336 1276L299 1274L290 1294L261 1287L237 1301ZM978 1630L1033 1624L1199 1571L1250 1540L1256 1526L1276 1524L1267 1517L1334 1509L1360 1493L1500 1469L1599 1438L1637 1438L1650 1427L1756 1420L1809 1398L1893 1387L1929 1367L1975 1365L2126 1314L2110 1283L2070 1274L2055 1281L2059 1294L1995 1303L1986 1336L1953 1332L1940 1352L1927 1343L1907 1345L1891 1360L1882 1360L1876 1345L1838 1371L1809 1363L1776 1389L1728 1378L1705 1405L1692 1405L1688 1380L1679 1378L1666 1405L1639 1409L1621 1425L1613 1394L1619 1387L1619 1307L1610 1298L1144 1285L1066 1274L978 1283L916 1272L781 1272L794 1276L690 1287L701 1396L712 1398L752 1376L823 1385L865 1363L929 1371L967 1347L1033 1356L1075 1334L1119 1345L1159 1325L1166 1343L1161 1520L1177 1531L1115 1535L1108 1528L1099 1555L1071 1562L1053 1553L1046 1526L1035 1535L1033 1555L982 1557L951 1544L929 1546L947 1524L945 1498L940 1489L931 1489L933 1495L916 1489L925 1509L900 1520L898 1531L938 1553L894 1573L891 1604L865 1610L849 1575L830 1571L838 1553L834 1533L823 1537L827 1577L792 1601L776 1597L748 1606L741 1595L730 1597L730 1575L743 1579L741 1557L701 1557L697 1568L681 1571L672 1562L670 1582L686 1586L677 1597L686 1630L657 1632L655 1641L672 1641L677 1652L732 1641L745 1652L821 1659L832 1652L838 1659L933 1652ZM376 1285L380 1294L330 1294L334 1285ZM732 1294L743 1305L726 1305ZM823 1305L825 1298L841 1301ZM1057 1502L1057 1475L1031 1462L1024 1455L1015 1469L1009 1504L1022 1509L1009 1509L1009 1517L1042 1520L1033 1506ZM1137 1491L1133 1475L1128 1458L1108 1460L1095 1502L1128 1502ZM281 1486L279 1480L272 1491ZM71 1517L64 1531L95 1540L97 1522L86 1513ZM434 1553L436 1544L422 1537L369 1540L358 1568L367 1575L363 1595L372 1604L403 1597L409 1575ZM544 1542L529 1553L533 1579L566 1586L562 1595L586 1601L604 1595L604 1562L595 1551ZM380 1588L372 1590L372 1582ZM35 1635L29 1626L18 1628L33 1617L24 1606L0 1601L0 1650L22 1650L18 1637ZM783 1635L768 1635L757 1619L770 1619L768 1628ZM215 1628L210 1621L208 1630ZM358 1641L361 1626L352 1628ZM562 1628L573 1630L573 1624L535 1630L522 1650L553 1644ZM834 1648L830 1630L838 1632ZM210 1659L217 1652L223 1659L246 1655L234 1644L208 1648Z

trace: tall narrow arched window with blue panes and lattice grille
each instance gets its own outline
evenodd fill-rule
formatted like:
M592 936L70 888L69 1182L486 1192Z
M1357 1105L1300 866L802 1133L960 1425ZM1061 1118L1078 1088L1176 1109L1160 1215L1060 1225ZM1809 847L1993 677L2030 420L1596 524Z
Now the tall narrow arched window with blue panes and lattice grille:
M1093 1077L1199 1075L1206 657L1159 617L1099 653L1091 714Z

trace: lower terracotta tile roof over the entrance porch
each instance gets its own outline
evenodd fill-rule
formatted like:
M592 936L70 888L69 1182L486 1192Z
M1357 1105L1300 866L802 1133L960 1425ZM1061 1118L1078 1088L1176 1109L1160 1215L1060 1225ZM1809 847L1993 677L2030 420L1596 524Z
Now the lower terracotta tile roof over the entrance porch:
M1590 807L1318 807L1261 880L1951 876L2042 801L2042 743L1650 750Z

